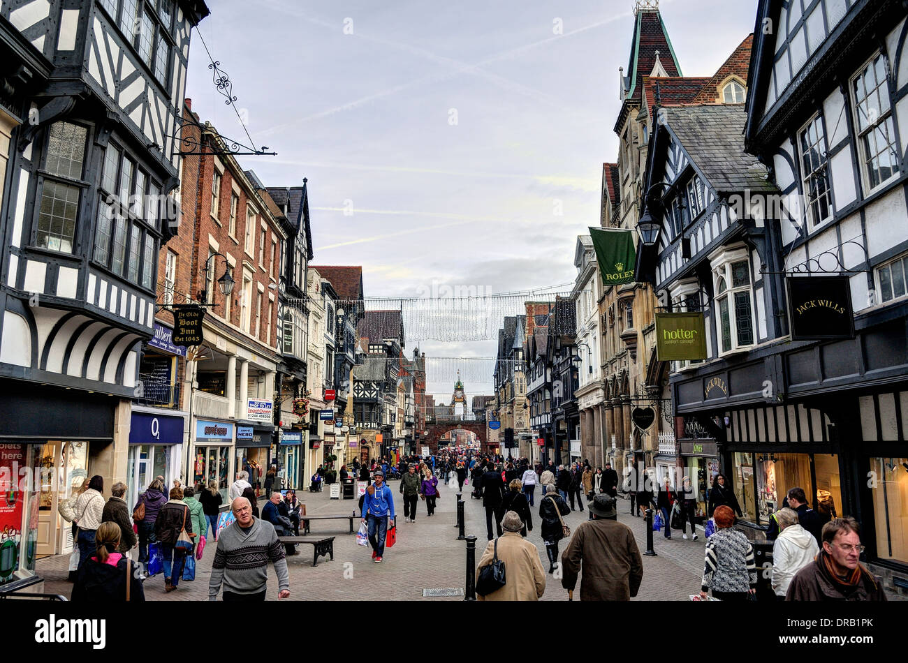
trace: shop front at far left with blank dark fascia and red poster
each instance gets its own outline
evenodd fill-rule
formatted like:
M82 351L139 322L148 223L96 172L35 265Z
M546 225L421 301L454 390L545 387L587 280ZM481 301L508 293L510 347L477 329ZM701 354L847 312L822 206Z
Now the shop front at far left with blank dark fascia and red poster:
M125 430L129 421L128 401L22 385L0 385L0 592L40 583L35 560L73 550L73 527L57 507L92 475L105 488L120 475L114 423L123 417Z

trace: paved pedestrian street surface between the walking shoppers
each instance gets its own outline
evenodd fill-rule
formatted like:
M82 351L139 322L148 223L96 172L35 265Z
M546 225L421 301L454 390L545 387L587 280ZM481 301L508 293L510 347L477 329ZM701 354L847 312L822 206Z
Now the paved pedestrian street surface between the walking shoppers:
M457 588L465 582L466 545L458 541L456 521L456 484L454 490L440 484L441 499L435 515L426 516L425 502L419 502L416 522L404 522L400 502L399 484L390 482L398 509L397 544L386 551L384 561L374 564L370 548L358 546L355 534L349 532L347 521L312 521L311 535L331 535L334 540L334 561L320 558L312 567L311 546L301 545L299 555L288 558L291 578L291 600L462 600L462 596L423 599L422 590L429 588ZM469 491L469 487L464 487ZM302 495L302 493L301 493ZM464 492L466 533L477 537L476 557L482 554L487 543L485 511L481 503ZM539 534L538 495L533 508L533 531L528 540L539 549L539 559L548 570L548 559ZM306 492L302 495L307 514L347 514L356 508L350 500L330 500L328 491ZM261 502L262 504L264 502ZM584 501L586 509L586 501ZM261 505L261 504L260 504ZM641 553L646 550L646 524L643 518L630 516L628 502L618 500L618 519L634 531ZM587 520L588 512L570 512L566 522L572 530ZM704 538L699 530L698 541L685 541L680 534L673 534L671 541L654 532L656 557L643 558L644 577L637 600L687 600L688 595L699 590L703 568ZM214 557L214 541L210 541L196 568L196 579L182 580L179 590L164 593L163 574L145 581L146 600L207 600L208 580ZM567 541L562 541L564 551ZM135 554L135 551L133 551ZM72 584L66 580L68 555L58 555L37 562L38 573L44 577L44 591L69 596ZM579 582L577 584L579 588ZM579 598L579 597L577 597ZM268 599L277 600L277 580L269 570ZM561 588L560 580L547 576L546 592L542 600L568 600L568 592Z

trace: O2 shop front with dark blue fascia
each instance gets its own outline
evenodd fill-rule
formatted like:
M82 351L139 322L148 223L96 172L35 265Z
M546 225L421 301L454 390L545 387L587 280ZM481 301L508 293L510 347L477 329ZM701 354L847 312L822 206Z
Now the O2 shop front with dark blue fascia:
M132 506L156 477L173 485L183 457L182 416L133 412L129 428L126 503Z

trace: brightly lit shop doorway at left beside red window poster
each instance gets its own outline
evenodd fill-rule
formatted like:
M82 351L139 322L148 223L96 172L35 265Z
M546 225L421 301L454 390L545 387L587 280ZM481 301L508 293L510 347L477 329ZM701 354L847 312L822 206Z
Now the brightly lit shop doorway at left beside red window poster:
M46 557L72 552L73 527L57 507L88 481L88 443L49 441L41 446L35 466L41 470L36 553Z

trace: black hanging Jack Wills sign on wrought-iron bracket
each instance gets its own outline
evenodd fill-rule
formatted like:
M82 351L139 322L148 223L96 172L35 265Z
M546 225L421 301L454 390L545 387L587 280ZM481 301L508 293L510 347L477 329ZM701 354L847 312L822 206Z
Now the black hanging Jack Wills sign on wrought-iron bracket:
M793 341L854 338L848 277L788 277L785 285Z

